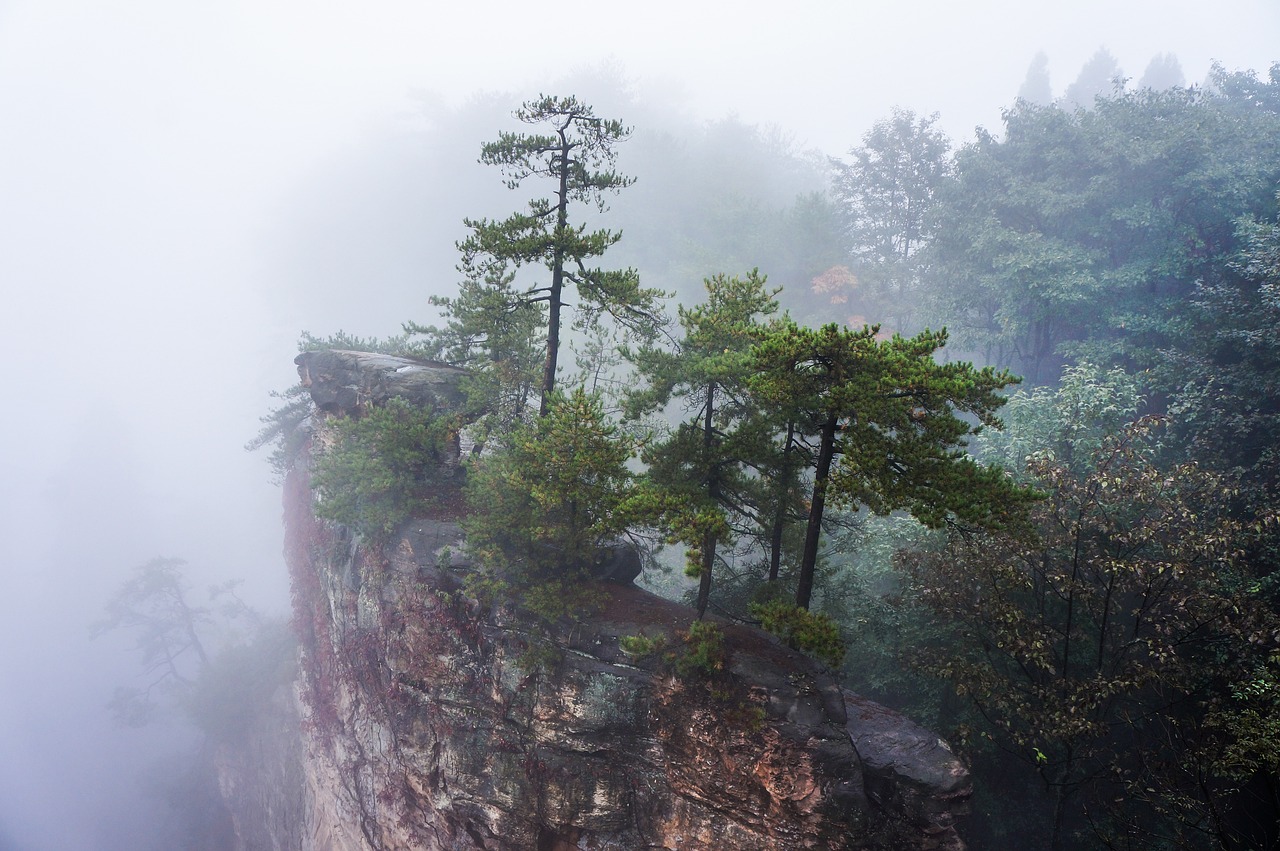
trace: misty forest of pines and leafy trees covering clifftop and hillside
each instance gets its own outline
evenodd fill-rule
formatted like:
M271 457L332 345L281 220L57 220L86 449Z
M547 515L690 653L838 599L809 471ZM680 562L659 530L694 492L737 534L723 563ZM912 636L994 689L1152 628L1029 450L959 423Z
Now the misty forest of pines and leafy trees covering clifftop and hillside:
M835 157L526 101L475 139L507 212L452 294L303 335L468 370L460 411L333 422L317 514L462 517L477 593L548 617L631 540L707 630L952 742L973 847L1280 847L1280 64L1033 82ZM314 412L278 402L283 473Z

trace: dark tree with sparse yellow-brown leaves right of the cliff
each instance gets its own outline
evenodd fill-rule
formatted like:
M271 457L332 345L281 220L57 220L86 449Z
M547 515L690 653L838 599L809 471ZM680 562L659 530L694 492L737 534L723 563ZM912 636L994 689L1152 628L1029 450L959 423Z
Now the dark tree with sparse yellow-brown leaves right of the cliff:
M947 653L919 663L1039 774L1060 836L1085 813L1115 829L1142 819L1184 836L1235 829L1224 820L1242 765L1231 736L1257 704L1222 701L1228 683L1258 680L1280 621L1240 581L1247 530L1228 514L1230 482L1157 466L1157 430L1143 420L1108 436L1083 475L1032 456L1050 495L1030 527L955 536L908 561L955 628Z

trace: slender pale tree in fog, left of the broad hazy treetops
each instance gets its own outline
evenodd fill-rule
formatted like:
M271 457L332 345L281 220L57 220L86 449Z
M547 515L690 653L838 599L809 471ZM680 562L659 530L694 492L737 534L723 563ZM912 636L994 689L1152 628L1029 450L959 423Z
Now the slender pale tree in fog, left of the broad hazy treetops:
M920 251L933 237L934 192L950 174L951 143L937 120L937 113L895 109L850 148L851 161L832 161L855 292L864 310L895 330L911 321Z

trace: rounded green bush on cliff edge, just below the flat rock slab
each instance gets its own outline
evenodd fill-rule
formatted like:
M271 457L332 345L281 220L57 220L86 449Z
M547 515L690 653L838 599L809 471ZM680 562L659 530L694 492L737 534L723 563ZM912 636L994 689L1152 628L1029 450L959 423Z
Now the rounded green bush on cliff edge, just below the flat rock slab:
M376 537L428 511L440 491L457 488L448 459L458 422L403 399L334 417L332 443L312 459L316 516Z

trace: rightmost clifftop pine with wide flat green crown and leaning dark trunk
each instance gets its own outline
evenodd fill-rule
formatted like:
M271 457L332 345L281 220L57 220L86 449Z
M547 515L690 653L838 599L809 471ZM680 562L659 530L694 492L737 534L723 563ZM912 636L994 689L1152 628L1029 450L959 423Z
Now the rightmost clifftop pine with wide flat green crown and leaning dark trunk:
M960 361L938 363L946 331L877 337L777 322L755 349L751 389L762 404L817 443L813 495L796 604L809 608L822 518L837 505L909 511L927 526L955 518L1000 525L1033 498L966 452L980 426L998 426L998 390L1016 379ZM975 425L973 420L977 420Z

